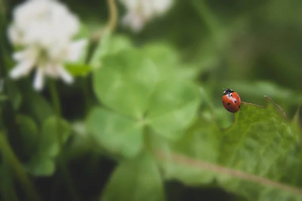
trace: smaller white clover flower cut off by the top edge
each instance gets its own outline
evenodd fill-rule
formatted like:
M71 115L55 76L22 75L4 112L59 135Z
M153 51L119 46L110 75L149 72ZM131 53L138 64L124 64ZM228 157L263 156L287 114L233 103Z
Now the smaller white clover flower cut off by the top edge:
M145 23L153 18L164 15L172 6L173 0L120 0L126 7L127 14L122 24L139 32Z

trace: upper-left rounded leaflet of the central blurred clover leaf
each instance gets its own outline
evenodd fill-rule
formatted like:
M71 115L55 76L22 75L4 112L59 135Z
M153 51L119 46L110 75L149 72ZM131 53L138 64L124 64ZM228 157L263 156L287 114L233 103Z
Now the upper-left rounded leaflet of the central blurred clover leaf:
M138 119L143 117L157 81L156 65L135 49L106 56L93 76L96 96L104 105Z

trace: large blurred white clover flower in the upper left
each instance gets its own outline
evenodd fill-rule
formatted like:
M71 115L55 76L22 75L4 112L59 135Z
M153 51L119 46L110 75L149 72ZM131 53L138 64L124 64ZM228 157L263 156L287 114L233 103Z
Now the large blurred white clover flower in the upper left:
M13 18L9 39L24 49L13 54L18 64L10 77L26 76L36 67L36 90L43 88L45 75L72 83L63 63L77 61L87 44L86 39L72 42L80 29L78 18L56 0L28 0L14 10Z

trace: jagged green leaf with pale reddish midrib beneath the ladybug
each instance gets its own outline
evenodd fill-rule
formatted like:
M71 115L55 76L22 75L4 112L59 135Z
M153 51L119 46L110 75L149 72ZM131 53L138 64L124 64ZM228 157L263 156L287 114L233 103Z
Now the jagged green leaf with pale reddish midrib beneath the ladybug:
M222 132L201 124L160 148L166 177L190 185L215 181L248 200L302 200L300 128L267 100L266 107L242 103Z

